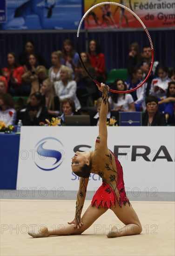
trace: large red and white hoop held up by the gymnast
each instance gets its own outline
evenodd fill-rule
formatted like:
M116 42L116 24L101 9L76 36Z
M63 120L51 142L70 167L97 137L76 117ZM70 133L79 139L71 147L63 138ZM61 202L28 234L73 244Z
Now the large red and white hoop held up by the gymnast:
M136 88L133 88L133 89L131 89L131 90L127 90L127 91L116 91L116 90L109 89L109 91L110 91L110 92L113 92L113 93L119 93L119 94L120 94L120 93L131 93L131 92L134 92L135 90L137 90L138 88L140 88L140 87L148 80L148 77L149 77L149 75L150 75L150 73L151 73L151 70L152 70L152 67L153 67L153 63L154 63L154 48L153 48L153 43L152 43L151 37L150 37L150 35L149 35L148 29L145 27L144 23L143 23L142 20L137 16L137 14L135 14L135 13L134 13L132 10L130 10L128 7L126 7L126 6L124 6L124 5L121 5L121 4L119 4L119 3L114 3L114 2L102 2L102 3L96 4L96 5L94 5L93 7L91 7L90 9L88 9L88 11L83 15L83 17L82 17L82 19L81 19L81 21L80 21L80 23L79 23L78 30L77 30L77 46L78 46L77 48L78 48L79 58L80 58L80 61L81 61L82 66L84 67L84 69L85 69L85 71L87 72L87 74L89 75L89 77L94 81L95 84L98 84L99 86L101 86L101 84L100 84L98 81L96 81L96 79L94 79L94 78L92 77L92 75L88 72L87 68L85 67L85 65L84 65L84 63L83 63L83 61L82 61L81 54L80 54L80 51L79 51L80 47L79 47L79 40L78 40L78 39L79 39L79 35L80 35L81 25L82 25L82 23L83 23L85 17L87 16L87 14L88 14L91 10L93 10L95 7L98 7L98 6L101 6L101 5L105 5L105 4L110 4L110 5L111 5L111 4L114 4L114 5L117 5L117 6L121 7L121 8L124 8L124 9L128 10L130 13L132 13L132 14L135 16L135 18L136 18L137 20L139 20L139 22L141 23L141 25L142 25L142 27L144 28L144 30L145 30L145 32L146 32L146 34L147 34L147 36L148 36L148 39L149 39L149 43L150 43L150 46L151 46L151 52L152 52L152 61L151 61L151 67L150 67L150 69L149 69L148 75L146 76L145 80L144 80L139 86L137 86Z

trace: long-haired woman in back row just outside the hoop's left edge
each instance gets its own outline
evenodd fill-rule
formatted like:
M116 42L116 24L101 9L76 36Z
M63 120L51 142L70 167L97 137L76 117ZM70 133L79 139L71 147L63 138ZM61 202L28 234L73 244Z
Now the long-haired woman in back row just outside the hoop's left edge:
M67 67L72 68L74 71L78 63L79 55L75 50L73 41L69 39L66 39L63 41L62 53L63 53L63 57L61 59L61 63ZM73 73L73 77L74 77L74 73Z

